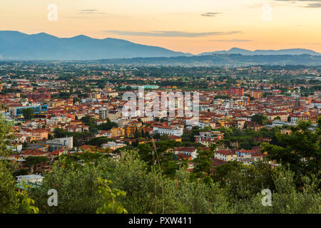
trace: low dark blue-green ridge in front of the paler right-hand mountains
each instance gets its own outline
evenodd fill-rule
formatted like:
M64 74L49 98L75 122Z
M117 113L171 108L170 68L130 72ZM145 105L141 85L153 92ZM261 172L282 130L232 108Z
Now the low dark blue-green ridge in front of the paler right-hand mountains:
M250 66L250 65L305 65L321 66L321 56L311 55L255 55L213 54L208 56L178 56L170 58L121 58L93 61L104 64L135 64L163 66Z

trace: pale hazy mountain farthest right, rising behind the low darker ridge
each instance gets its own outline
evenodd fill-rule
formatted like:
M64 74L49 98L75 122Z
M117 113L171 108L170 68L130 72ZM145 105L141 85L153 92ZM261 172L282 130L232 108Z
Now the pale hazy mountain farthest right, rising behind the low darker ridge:
M198 54L198 56L207 56L212 54L241 54L244 56L254 56L254 55L303 55L308 54L312 56L320 56L321 53L316 51L303 49L303 48L291 48L291 49L280 49L280 50L255 50L248 51L241 48L230 48L228 51L213 51L213 52L204 52Z

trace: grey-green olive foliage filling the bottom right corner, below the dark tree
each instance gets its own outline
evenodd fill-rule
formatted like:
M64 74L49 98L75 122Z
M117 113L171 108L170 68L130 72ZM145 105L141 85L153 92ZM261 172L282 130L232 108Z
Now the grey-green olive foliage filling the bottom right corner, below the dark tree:
M295 187L295 173L280 167L274 175L275 190L272 190L272 205L262 206L261 192L253 195L250 200L238 200L235 209L238 213L258 214L320 214L321 195L316 177L302 177L302 191Z

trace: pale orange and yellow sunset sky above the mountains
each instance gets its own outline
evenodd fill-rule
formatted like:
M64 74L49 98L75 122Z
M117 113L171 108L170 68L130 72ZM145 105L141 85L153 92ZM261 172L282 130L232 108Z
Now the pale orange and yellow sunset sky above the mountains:
M47 19L49 4L58 6L58 21ZM321 0L1 0L0 30L121 38L190 53L321 53Z

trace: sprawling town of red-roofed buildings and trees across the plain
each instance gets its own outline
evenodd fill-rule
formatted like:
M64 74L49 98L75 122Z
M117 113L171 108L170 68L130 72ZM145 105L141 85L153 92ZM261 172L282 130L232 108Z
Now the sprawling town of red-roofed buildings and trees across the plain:
M310 123L312 133L318 128L320 73L320 67L302 66L1 63L1 115L14 135L3 158L18 167L19 190L23 181L41 185L59 157L83 164L95 156L119 160L128 150L151 166L158 152L168 177L180 167L193 174L206 152L213 152L210 173L234 161L250 166L264 160L275 169L280 161L268 157L264 144L277 134L291 135L298 123ZM158 101L163 92L198 93L197 118L178 116L175 98L175 116L161 105L157 115L142 114L138 106L134 115L124 115L124 93L136 100L141 88ZM144 107L150 103L143 100Z

